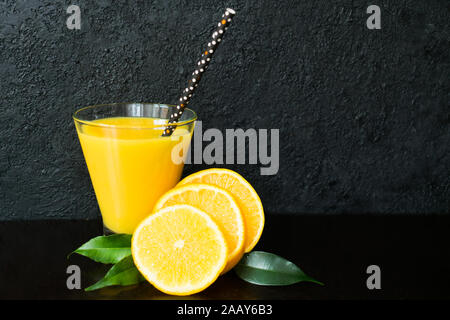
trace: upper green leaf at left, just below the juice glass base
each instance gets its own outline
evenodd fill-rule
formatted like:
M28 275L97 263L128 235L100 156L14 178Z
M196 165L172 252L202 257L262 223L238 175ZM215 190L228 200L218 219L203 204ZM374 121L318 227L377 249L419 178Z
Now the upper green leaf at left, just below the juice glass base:
M131 235L113 234L95 237L72 253L81 254L100 263L117 263L131 255Z

